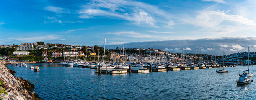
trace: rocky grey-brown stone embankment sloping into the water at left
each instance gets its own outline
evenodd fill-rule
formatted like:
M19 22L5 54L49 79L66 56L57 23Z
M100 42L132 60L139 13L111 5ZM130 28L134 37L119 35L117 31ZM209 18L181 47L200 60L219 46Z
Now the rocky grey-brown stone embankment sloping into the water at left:
M14 71L0 61L0 100L41 100L28 80L14 76Z

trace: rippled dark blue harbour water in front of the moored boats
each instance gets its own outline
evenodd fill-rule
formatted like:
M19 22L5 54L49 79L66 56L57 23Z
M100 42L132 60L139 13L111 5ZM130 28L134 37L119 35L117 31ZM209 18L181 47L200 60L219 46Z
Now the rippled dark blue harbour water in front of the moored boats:
M63 67L60 64L27 64L28 67L7 65L16 77L35 85L43 100L174 100L174 99L256 99L256 81L236 85L238 72L245 67L229 67L228 73L216 73L219 68L181 70L122 75L98 75L96 69ZM29 66L39 66L34 72ZM251 67L250 67L251 68ZM251 77L255 80L256 76Z

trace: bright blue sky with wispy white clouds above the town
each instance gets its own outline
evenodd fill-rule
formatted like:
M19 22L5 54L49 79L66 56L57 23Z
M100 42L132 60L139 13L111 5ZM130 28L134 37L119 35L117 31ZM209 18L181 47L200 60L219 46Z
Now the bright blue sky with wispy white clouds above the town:
M1 0L0 45L256 51L255 0Z

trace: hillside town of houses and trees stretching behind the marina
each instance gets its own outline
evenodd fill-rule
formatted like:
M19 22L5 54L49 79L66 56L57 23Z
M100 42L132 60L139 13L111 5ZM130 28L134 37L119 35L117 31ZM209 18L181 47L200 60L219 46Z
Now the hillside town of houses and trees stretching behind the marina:
M105 52L104 52L105 51ZM104 55L105 53L105 55ZM160 49L116 48L95 46L52 44L44 42L21 43L20 45L0 45L0 60L9 62L64 62L64 61L105 61L110 62L173 62L173 63L222 63L223 56L207 54L182 54ZM246 59L246 58L249 58ZM255 52L238 52L225 55L225 64L256 64Z

